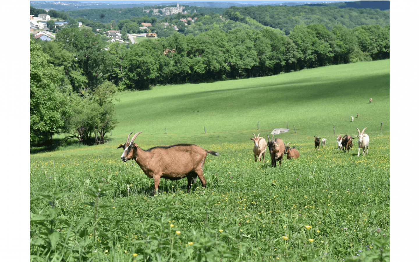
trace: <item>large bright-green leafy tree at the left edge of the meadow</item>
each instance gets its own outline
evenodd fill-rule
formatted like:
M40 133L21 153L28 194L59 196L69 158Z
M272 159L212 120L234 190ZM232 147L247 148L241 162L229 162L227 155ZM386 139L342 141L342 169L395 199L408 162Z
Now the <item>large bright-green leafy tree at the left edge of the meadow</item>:
M29 41L30 143L40 144L51 142L52 135L61 132L70 112L67 96L70 89L64 86L63 68L49 64L49 56L40 45L33 39Z

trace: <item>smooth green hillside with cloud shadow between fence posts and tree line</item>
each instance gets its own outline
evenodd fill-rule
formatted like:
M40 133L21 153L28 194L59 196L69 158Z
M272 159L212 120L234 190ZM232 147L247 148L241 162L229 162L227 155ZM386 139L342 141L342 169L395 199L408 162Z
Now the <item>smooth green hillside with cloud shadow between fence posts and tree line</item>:
M368 104L373 97L374 103ZM118 96L114 134L235 133L295 125L298 134L377 132L389 124L389 60L318 67L264 78L157 86ZM198 112L199 111L199 112ZM356 130L355 130L356 131Z

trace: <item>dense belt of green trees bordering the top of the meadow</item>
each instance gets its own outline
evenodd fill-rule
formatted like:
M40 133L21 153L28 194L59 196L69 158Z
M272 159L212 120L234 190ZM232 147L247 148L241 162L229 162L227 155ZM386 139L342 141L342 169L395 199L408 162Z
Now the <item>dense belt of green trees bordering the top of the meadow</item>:
M255 14L258 12L250 13ZM65 13L54 16L62 18ZM62 133L82 143L100 143L116 124L111 101L117 91L261 77L389 58L388 25L348 28L336 24L329 29L322 23L299 23L285 34L249 16L243 19L241 14L234 21L217 13L194 13L196 21L189 21L187 26L178 21L185 16L160 20L143 16L108 24L80 17L77 19L91 23L92 28L63 27L54 41L31 37L31 144L51 141L54 134ZM109 43L93 28L101 24L132 33L143 22L152 23L150 30L160 36L167 31L166 37L144 39L138 44ZM179 30L163 26L163 22L178 24Z

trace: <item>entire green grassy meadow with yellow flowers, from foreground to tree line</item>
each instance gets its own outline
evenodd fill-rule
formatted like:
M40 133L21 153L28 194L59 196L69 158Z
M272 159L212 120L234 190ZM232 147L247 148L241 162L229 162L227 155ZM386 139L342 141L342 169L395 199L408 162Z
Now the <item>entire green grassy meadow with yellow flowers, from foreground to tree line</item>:
M31 154L31 260L388 261L389 64L120 93L108 144ZM252 133L287 125L275 137L300 158L272 168L268 150L256 163ZM368 155L357 156L357 138L339 152L336 136L357 127ZM207 156L207 188L197 179L187 194L186 179L162 179L151 196L153 180L116 149L138 131L143 149L220 153ZM318 151L315 135L327 139Z

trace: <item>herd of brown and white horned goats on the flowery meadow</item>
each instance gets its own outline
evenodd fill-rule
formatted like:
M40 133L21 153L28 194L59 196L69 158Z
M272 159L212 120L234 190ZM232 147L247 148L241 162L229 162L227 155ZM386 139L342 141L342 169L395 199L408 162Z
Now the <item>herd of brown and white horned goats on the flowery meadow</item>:
M353 137L358 137L358 156L360 156L360 149L362 148L363 154L368 153L368 144L370 138L367 134L364 134L364 131L367 127L360 132L358 130L358 135ZM124 144L119 145L117 148L123 148L124 152L122 153L121 160L126 162L128 160L134 159L137 162L138 166L142 169L144 174L154 180L153 195L158 192L158 185L160 183L160 178L178 180L186 177L188 179L188 184L186 185L187 192L190 191L191 184L196 182L197 177L201 180L202 187L206 187L207 182L204 178L204 163L207 154L210 153L214 156L220 156L219 153L212 150L205 150L197 145L192 144L176 144L169 146L157 146L143 150L137 144L134 143L135 138L140 134L138 132L135 134L131 140L129 137L132 132L128 135L127 141ZM256 137L251 138L254 141L253 153L255 156L255 161L262 162L265 158L266 146L269 148L269 154L271 155L271 166L276 167L277 161L279 161L279 166L281 166L282 158L286 154L287 159L290 158L299 158L300 153L294 147L285 145L284 140L280 138L275 138L274 135L272 138L269 138L268 142L264 137L259 137L260 133ZM350 135L344 135L343 137L339 135L337 137L338 147L343 152L348 151L352 148L352 138ZM326 138L323 138L320 142L320 138L315 136L314 144L316 149L320 147L320 143L323 146L326 145Z

